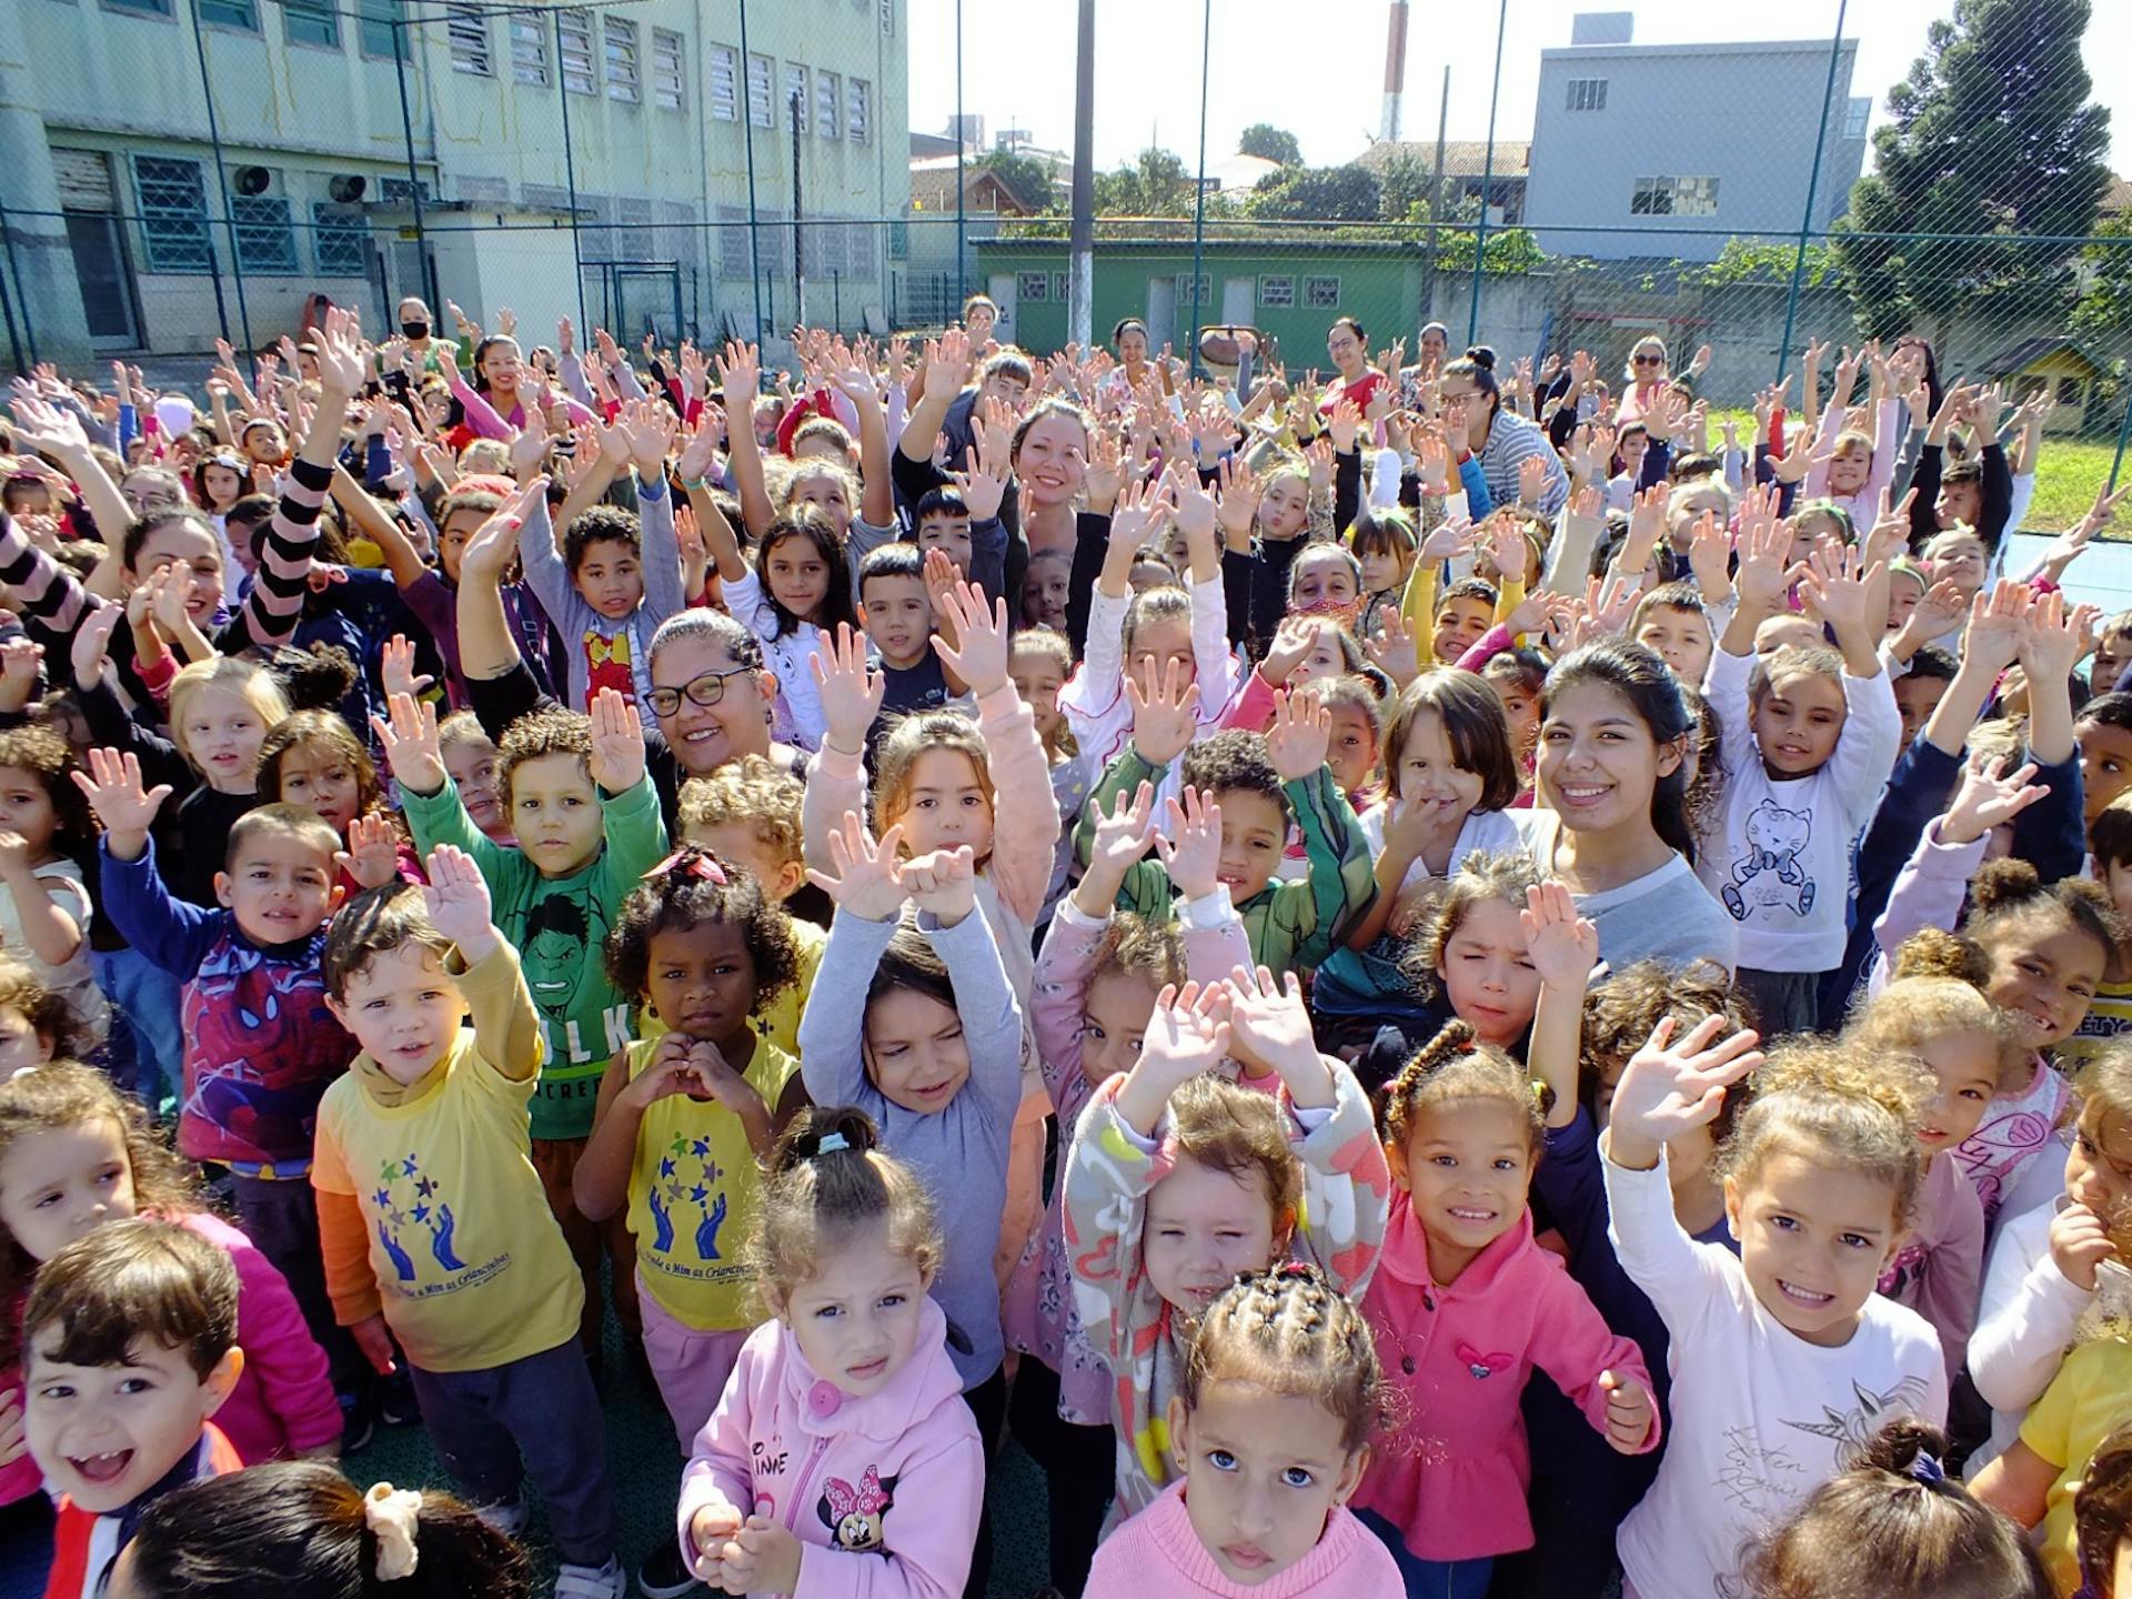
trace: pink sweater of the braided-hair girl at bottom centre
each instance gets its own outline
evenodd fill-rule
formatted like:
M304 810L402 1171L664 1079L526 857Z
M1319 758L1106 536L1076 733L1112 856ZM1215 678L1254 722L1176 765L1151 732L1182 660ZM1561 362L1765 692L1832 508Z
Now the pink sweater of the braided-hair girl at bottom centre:
M1354 1512L1335 1507L1318 1548L1286 1571L1243 1586L1222 1576L1192 1531L1185 1484L1173 1482L1096 1550L1081 1599L1405 1599L1392 1552Z

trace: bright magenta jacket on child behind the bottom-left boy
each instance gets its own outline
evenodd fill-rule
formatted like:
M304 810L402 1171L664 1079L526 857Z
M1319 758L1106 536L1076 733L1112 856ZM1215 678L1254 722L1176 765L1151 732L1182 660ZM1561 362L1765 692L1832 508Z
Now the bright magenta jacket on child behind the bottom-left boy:
M220 1215L185 1211L168 1220L198 1232L237 1266L237 1347L245 1352L245 1369L215 1411L215 1426L237 1458L245 1465L288 1460L339 1443L341 1405L326 1377L326 1356L311 1339L288 1279ZM13 1313L21 1315L21 1305ZM21 1403L21 1373L0 1371L0 1394L11 1390ZM0 1505L28 1499L43 1480L28 1454L0 1467Z

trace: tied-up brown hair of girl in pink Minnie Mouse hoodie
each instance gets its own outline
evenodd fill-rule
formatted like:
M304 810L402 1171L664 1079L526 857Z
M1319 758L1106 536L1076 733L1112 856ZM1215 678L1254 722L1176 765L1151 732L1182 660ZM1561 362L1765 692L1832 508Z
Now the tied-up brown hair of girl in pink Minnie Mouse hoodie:
M853 1234L887 1228L887 1251L925 1281L944 1245L925 1179L881 1149L866 1111L810 1104L778 1136L763 1173L761 1213L746 1260L765 1298L785 1303L821 1271L821 1256Z

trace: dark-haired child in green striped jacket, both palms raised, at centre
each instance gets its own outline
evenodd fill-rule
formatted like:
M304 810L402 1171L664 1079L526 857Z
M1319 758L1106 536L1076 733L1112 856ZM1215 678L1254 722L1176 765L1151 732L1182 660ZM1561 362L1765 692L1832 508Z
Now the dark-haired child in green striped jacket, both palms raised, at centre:
M1096 806L1115 808L1141 782L1162 793L1181 755L1175 778L1222 808L1217 883L1243 917L1251 957L1281 972L1313 970L1377 893L1369 834L1326 765L1330 712L1313 695L1277 691L1266 733L1228 729L1194 744L1192 684L1175 661L1162 676L1141 667L1128 695L1132 744L1096 782L1077 849L1092 836ZM1277 881L1290 819L1303 831L1309 876ZM1164 866L1143 859L1126 872L1117 904L1143 917L1170 915L1173 889Z

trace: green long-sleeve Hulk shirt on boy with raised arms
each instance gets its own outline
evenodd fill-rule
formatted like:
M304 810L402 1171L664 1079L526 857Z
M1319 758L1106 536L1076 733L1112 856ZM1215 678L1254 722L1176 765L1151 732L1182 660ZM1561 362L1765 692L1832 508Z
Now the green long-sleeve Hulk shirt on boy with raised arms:
M667 853L659 791L646 776L627 793L603 795L605 849L559 878L542 876L520 851L478 829L450 778L437 793L401 791L401 800L424 857L437 844L454 844L482 868L497 927L518 947L546 1043L533 1136L591 1136L608 1057L635 1036L637 996L608 981L603 951L623 900Z

